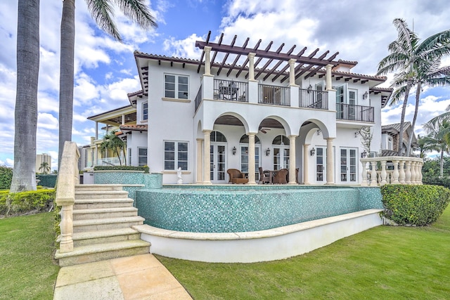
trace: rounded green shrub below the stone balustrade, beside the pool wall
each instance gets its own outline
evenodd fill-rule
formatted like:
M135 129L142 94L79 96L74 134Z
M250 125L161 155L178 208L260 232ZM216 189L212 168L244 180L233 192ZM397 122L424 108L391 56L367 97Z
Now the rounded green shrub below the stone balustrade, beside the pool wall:
M382 213L399 225L434 223L450 202L450 190L438 185L383 185Z

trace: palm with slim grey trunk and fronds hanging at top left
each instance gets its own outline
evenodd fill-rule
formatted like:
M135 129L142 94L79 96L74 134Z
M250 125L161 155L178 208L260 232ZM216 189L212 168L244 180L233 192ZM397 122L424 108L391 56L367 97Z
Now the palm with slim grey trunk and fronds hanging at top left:
M151 15L145 0L85 0L92 18L97 25L114 39L122 41L113 21L116 4L120 11L146 30L158 25ZM61 161L65 141L72 141L73 89L74 89L74 49L75 49L75 0L63 0L61 18L60 53L60 98L59 98L59 150Z

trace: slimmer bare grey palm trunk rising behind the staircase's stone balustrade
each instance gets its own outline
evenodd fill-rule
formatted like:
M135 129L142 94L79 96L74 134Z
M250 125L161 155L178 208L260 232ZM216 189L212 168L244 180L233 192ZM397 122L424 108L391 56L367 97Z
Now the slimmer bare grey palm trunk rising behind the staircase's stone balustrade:
M63 155L64 142L72 141L74 52L75 0L64 0L61 17L58 166Z

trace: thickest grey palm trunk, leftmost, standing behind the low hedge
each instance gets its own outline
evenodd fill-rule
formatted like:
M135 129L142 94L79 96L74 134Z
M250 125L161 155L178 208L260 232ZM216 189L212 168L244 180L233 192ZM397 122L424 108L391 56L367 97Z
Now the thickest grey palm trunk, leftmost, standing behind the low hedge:
M39 0L19 0L11 193L36 190ZM25 120L25 122L24 122Z

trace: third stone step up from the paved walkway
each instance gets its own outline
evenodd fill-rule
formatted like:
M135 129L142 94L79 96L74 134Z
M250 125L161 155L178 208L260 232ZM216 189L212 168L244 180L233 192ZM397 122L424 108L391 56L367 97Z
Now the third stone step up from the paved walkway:
M108 230L117 228L127 228L134 225L143 224L141 216L125 216L122 218L91 219L73 221L73 233L84 231Z

